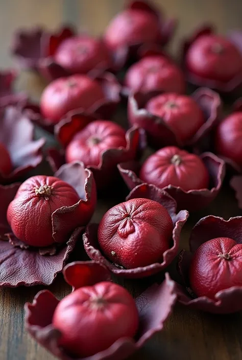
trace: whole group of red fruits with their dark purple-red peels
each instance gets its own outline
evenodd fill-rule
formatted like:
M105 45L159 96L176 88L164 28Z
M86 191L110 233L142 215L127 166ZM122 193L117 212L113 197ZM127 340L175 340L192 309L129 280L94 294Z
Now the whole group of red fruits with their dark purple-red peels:
M141 0L100 38L16 32L12 55L49 81L39 105L14 92L14 70L0 74L0 285L50 285L63 271L71 294L58 301L44 290L26 304L28 331L60 359L123 359L163 328L176 301L242 309L242 217L201 219L179 254L181 283L168 273L162 282L187 210L214 201L226 171L242 208L242 33L201 27L176 62L165 49L176 23ZM225 94L236 100L229 115ZM118 106L126 126L112 121ZM59 147L44 153L35 126ZM43 155L52 176L31 176ZM123 180L129 195L90 224L97 194L115 196ZM71 252L78 261L65 265ZM135 300L111 280L157 273L161 284Z

